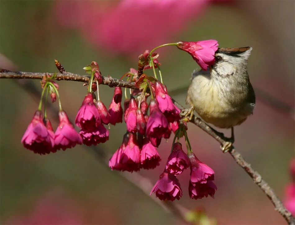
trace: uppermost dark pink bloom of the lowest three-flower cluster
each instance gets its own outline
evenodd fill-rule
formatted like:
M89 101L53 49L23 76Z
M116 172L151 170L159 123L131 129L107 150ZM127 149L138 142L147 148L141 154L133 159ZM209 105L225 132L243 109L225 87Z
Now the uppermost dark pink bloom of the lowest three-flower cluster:
M173 150L167 160L166 170L173 175L179 175L189 166L188 156L182 150L181 144L179 142L174 143Z

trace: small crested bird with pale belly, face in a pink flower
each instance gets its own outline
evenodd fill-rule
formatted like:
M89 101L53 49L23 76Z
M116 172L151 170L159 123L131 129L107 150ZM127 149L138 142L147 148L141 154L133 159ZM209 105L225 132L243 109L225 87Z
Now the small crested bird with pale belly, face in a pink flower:
M194 71L186 103L197 114L218 128L231 128L231 142L223 146L228 151L234 142L234 126L242 124L255 107L255 93L250 83L247 64L252 47L218 48L215 62L206 71Z

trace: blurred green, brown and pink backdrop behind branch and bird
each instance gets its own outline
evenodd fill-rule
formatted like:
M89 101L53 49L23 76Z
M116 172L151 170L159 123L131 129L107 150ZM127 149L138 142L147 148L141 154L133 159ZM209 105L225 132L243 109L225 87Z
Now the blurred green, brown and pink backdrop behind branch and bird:
M1 67L27 72L68 72L97 61L103 75L120 78L136 68L138 55L163 43L216 39L220 47L252 46L248 72L256 91L254 115L235 128L234 146L284 200L294 158L294 1L1 1ZM176 47L158 51L169 92L184 104L191 73L198 68ZM40 81L1 80L1 224L180 224L89 147L36 155L20 143L38 107L21 88ZM79 82L58 82L64 110L73 121L86 93ZM113 89L100 88L108 106ZM269 97L280 104L271 106ZM288 107L289 106L289 107ZM57 104L54 104L57 107ZM291 110L289 109L291 108ZM57 115L49 113L56 128ZM285 224L243 169L219 144L193 124L189 137L197 157L215 171L215 199L190 200L189 171L179 176L177 204L204 209L218 224ZM229 136L229 131L223 130ZM111 126L110 141L96 151L110 157L125 125ZM163 171L173 138L162 141L162 162L140 171L154 184ZM136 176L135 173L130 176Z

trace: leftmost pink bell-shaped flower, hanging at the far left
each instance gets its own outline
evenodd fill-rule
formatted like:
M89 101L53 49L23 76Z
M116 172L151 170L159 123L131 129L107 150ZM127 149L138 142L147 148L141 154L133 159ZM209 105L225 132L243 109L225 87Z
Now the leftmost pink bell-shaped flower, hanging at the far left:
M45 127L42 119L42 112L37 110L21 139L25 148L40 155L46 153L49 154L54 145L52 137L50 136L50 131Z

